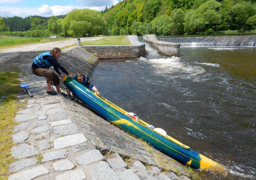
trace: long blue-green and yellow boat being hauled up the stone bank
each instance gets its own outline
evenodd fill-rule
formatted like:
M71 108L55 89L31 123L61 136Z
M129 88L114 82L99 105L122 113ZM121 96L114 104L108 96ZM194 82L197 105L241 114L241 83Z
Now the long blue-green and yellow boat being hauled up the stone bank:
M126 111L114 105L107 99L99 97L97 93L93 93L79 82L64 77L63 83L65 86L75 93L79 99L87 104L91 109L102 115L108 121L128 132L131 135L141 138L154 148L174 158L175 160L187 164L192 168L211 168L216 169L222 167L217 162L191 150L189 146L182 144L174 138L151 129L150 126L140 119L134 119ZM128 114L128 115L127 115Z

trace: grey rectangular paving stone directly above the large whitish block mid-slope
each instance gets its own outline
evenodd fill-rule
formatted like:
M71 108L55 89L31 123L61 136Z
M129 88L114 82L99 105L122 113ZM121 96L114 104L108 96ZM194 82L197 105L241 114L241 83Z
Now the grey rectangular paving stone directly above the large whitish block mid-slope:
M78 133L78 129L75 123L73 123L73 124L54 127L52 129L52 132L55 137L59 137L61 135L70 135L70 134Z

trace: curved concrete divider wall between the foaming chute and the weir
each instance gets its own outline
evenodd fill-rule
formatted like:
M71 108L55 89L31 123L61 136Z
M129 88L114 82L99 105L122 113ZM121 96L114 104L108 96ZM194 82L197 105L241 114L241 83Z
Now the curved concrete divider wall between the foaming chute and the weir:
M179 56L180 44L158 41L154 34L143 35L143 40L158 50L161 54Z

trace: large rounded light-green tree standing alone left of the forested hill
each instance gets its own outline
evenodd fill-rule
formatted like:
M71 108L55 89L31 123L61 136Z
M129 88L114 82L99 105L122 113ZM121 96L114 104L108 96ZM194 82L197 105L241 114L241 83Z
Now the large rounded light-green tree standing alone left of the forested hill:
M107 23L102 14L96 10L74 9L64 18L69 24L68 34L86 36L102 34L102 28L107 32Z

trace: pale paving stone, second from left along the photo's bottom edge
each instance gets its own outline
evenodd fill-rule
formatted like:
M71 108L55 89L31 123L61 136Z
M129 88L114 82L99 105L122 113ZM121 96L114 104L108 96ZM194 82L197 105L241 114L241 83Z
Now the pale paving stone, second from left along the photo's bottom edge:
M59 176L56 176L56 180L84 180L86 178L83 169L66 172Z

